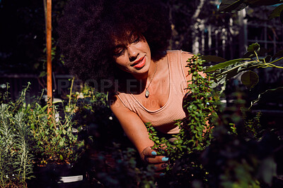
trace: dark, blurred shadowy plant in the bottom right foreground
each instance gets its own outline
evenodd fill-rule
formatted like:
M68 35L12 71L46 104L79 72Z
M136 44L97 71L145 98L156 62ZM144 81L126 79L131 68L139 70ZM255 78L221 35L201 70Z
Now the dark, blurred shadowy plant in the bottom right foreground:
M277 174L277 165L280 164L278 151L282 141L275 135L279 132L265 130L259 124L261 114L253 115L245 108L243 92L234 94L236 101L219 114L214 139L202 155L210 186L282 186Z

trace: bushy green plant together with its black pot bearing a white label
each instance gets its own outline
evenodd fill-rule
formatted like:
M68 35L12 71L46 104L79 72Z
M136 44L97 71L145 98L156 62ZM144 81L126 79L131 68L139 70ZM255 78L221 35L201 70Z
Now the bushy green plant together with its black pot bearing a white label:
M33 153L36 156L37 177L30 187L40 185L58 187L81 186L84 177L79 165L83 156L84 140L80 137L81 126L76 127L76 95L70 92L69 103L54 102L52 114L47 114L48 106L40 106L40 96L28 115L30 131L33 134Z

